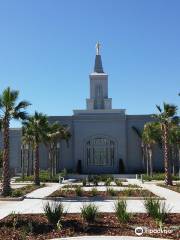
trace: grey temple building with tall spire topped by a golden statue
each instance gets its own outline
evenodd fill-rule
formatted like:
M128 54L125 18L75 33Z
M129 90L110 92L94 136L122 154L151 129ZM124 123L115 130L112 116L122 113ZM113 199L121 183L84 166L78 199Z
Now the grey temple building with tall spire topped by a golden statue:
M151 115L128 115L125 109L113 109L108 94L108 74L104 71L96 46L94 70L89 75L90 95L86 109L74 110L72 116L49 116L49 122L58 121L69 126L72 137L69 146L58 145L57 172L66 168L76 172L81 165L82 173L140 173L146 169L142 157L141 139L134 128L142 130ZM128 93L127 93L128 94ZM11 129L10 165L21 169L21 129ZM48 153L40 148L40 166L48 169ZM153 154L155 171L163 169L161 151Z

